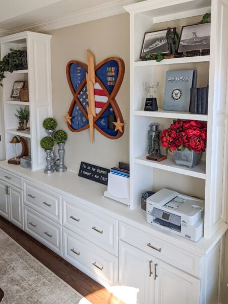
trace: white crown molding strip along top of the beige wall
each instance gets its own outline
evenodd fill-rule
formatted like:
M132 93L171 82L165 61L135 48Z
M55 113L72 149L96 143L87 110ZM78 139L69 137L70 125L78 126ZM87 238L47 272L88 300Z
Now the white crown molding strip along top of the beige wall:
M7 34L12 34L21 31L47 32L53 29L58 29L70 25L123 14L126 13L126 10L123 8L123 6L136 3L137 1L139 0L115 0L108 4L99 5L91 9L86 9L77 13L68 14L45 22L37 22L28 24L26 26L18 27L14 30L8 31Z

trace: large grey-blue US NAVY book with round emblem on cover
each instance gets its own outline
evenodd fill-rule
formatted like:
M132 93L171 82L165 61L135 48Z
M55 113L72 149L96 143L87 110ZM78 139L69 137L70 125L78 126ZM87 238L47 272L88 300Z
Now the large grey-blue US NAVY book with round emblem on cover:
M196 86L196 70L166 72L164 110L189 111L191 88Z

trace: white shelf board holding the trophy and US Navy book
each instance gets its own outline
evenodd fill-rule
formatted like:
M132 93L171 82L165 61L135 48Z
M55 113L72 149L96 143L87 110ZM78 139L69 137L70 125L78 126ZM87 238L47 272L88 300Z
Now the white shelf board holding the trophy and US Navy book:
M134 116L160 117L160 118L172 118L172 119L192 119L199 121L207 121L208 118L207 115L203 115L203 114L191 114L189 112L166 111L161 108L159 108L158 111L135 110Z

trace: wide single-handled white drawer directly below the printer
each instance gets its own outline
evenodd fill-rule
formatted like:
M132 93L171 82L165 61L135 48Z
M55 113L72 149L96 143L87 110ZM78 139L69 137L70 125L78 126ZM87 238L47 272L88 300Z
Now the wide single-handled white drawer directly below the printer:
M177 248L123 222L120 222L120 239L153 256L161 258L189 274L200 277L200 257L191 252L179 247Z

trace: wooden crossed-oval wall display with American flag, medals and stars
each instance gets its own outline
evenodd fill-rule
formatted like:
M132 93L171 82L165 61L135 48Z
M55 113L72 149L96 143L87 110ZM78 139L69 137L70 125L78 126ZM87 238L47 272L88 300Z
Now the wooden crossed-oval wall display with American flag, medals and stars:
M75 60L66 66L67 81L73 95L65 116L66 123L72 132L95 128L104 136L117 139L124 133L124 120L115 99L124 78L124 61L110 57L94 67L90 64L94 60L93 55L88 50L87 58L88 66ZM91 94L94 98L93 116L89 113Z

